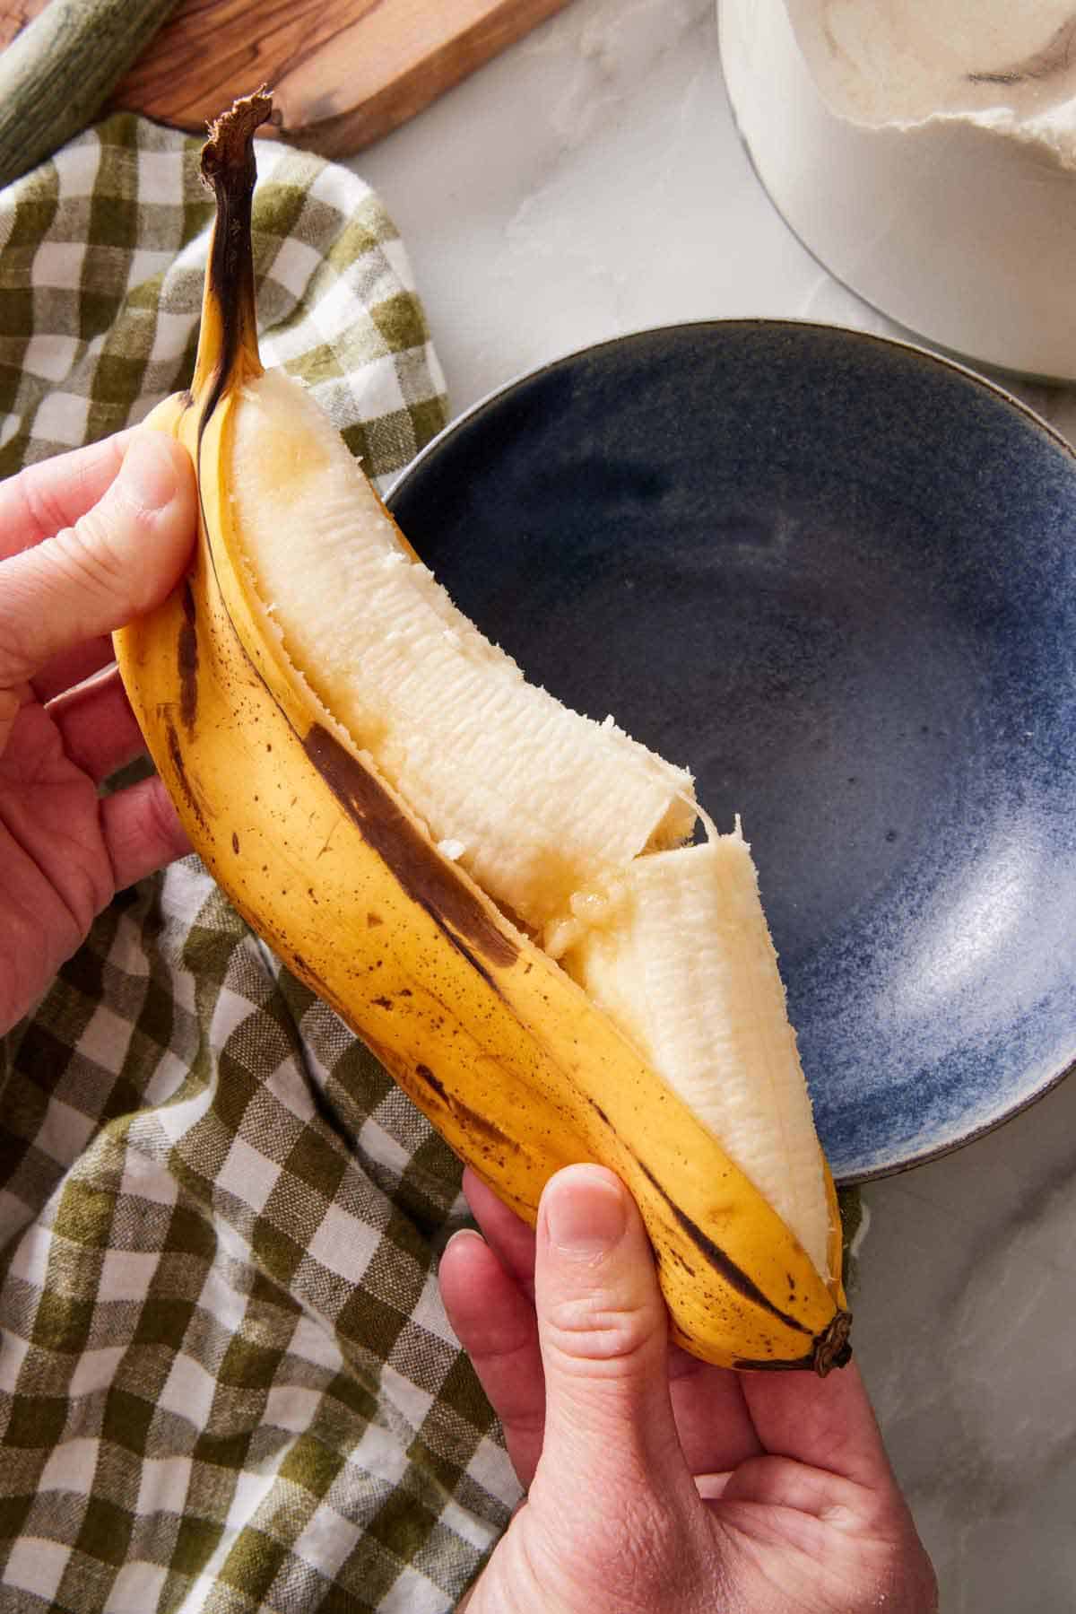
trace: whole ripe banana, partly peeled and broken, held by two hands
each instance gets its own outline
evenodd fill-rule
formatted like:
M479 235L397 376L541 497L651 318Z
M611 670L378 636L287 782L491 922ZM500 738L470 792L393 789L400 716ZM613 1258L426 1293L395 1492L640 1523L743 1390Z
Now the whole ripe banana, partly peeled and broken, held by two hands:
M634 952L624 954L632 962L618 964L608 938L634 935L634 918L624 926L616 918L624 870L631 884L644 865L650 875L658 859L707 851L668 851L695 818L689 776L608 725L576 730L589 720L553 715L557 702L544 692L545 704L536 705L518 668L432 584L302 389L263 374L250 205L253 132L268 113L268 95L247 97L210 132L203 174L216 190L218 221L195 374L187 394L150 416L186 444L200 489L190 573L160 608L116 634L153 760L194 846L239 912L368 1043L502 1199L534 1222L553 1170L600 1160L640 1207L674 1340L723 1365L824 1374L850 1354L840 1222L810 1109L807 1135L802 1114L784 1112L781 1062L790 1057L800 1080L799 1062L761 910L750 923L761 923L768 954L736 925L732 944L747 938L745 955L758 952L763 973L778 980L776 997L773 980L765 988L763 1010L781 1022L774 1114L808 1139L808 1172L823 1206L818 1241L807 1235L813 1259L695 1107L658 1075L645 1030L615 1023L618 991L644 993L639 947L649 935L644 925ZM358 544L352 536L350 549L334 550L334 529L348 523L360 531ZM373 570L345 586L352 563L366 563L357 550L374 555ZM411 592L382 599L382 586L392 591L400 579ZM326 629L319 612L332 592L358 599L358 612ZM326 634L334 646L323 644ZM448 728L431 742L436 686L423 665L434 642L458 663L460 679L478 668L484 681L481 699L447 702ZM436 676L444 686L447 675ZM571 833L563 825L545 831L537 809L519 826L528 817L526 778L515 797L505 791L507 813L497 773L487 775L497 788L476 792L473 812L457 801L458 786L469 786L482 765L460 736L479 746L490 713L516 700L528 713L523 728L545 736L544 746L560 746L565 765L586 754L587 767L598 770L600 784ZM440 754L457 738L469 760L457 749L455 767L445 770ZM523 773L531 767L542 767L534 747ZM613 812L602 817L607 791L615 792ZM469 799L469 788L463 794ZM566 797L561 788L558 801L584 794L574 788ZM740 847L736 855L719 852L715 868L729 859L742 865ZM749 873L740 868L734 878L747 880L750 891L740 894L750 907L757 893L749 859L744 867ZM631 897L632 915L644 914L640 901ZM710 923L711 904L687 909L695 926ZM536 938L550 946L560 938L578 980ZM618 976L618 968L628 973ZM608 996L608 1012L579 985L587 980ZM729 1046L739 1060L747 1044L732 1038Z

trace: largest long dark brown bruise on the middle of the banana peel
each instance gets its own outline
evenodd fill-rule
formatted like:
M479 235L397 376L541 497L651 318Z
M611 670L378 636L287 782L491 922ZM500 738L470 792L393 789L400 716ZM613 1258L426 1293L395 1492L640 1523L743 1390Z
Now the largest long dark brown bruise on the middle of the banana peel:
M327 728L315 723L302 744L363 839L392 870L407 894L429 914L484 980L495 986L481 959L497 968L508 968L519 955L511 936L500 930L452 865Z

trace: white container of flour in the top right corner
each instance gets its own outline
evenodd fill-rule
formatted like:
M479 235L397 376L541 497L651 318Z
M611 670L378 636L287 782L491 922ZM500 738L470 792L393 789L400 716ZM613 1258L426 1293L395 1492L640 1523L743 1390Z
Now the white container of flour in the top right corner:
M1029 66L1023 89L1015 73L1013 84L968 73L978 110L899 128L834 111L786 0L719 0L718 15L739 131L815 257L940 347L1076 379L1076 102L1065 102L1058 77L1071 74L1065 42L1057 73ZM1042 21L1049 27L1045 11ZM1045 123L1016 118L1029 102L1045 107Z

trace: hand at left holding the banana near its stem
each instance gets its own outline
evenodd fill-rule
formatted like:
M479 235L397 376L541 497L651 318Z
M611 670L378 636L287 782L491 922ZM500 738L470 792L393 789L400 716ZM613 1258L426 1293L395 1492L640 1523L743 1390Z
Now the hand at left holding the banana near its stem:
M98 784L144 749L108 634L165 599L194 533L190 458L158 431L0 483L0 1033L116 891L190 849L156 776Z

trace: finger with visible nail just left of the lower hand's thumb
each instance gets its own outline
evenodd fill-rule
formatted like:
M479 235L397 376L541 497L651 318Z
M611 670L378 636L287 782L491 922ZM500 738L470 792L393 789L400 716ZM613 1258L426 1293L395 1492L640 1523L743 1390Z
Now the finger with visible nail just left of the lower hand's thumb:
M455 1233L440 1257L440 1296L502 1422L526 1490L542 1454L545 1382L534 1307L479 1233Z

